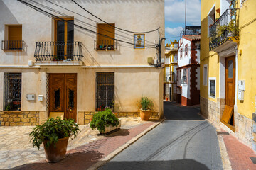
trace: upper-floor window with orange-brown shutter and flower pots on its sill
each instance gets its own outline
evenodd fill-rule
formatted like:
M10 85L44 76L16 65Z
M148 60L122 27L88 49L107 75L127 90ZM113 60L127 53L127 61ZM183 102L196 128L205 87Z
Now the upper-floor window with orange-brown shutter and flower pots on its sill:
M96 50L114 50L114 23L98 23L97 24L97 40Z

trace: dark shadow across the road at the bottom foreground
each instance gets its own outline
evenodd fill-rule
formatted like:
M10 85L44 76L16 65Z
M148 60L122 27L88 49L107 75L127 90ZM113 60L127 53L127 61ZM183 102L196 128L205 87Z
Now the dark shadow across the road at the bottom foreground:
M133 162L108 162L100 169L196 169L208 170L208 167L193 159L177 159L168 161L133 161Z

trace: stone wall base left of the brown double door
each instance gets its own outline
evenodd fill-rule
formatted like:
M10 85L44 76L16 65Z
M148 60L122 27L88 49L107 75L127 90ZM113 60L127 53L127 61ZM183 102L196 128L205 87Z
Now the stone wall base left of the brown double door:
M0 111L2 126L39 125L39 111Z

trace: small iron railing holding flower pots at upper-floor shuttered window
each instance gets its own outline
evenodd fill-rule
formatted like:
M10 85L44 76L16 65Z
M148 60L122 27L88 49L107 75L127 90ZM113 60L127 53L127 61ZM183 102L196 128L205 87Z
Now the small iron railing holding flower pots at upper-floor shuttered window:
M95 50L116 50L116 40L95 40Z

